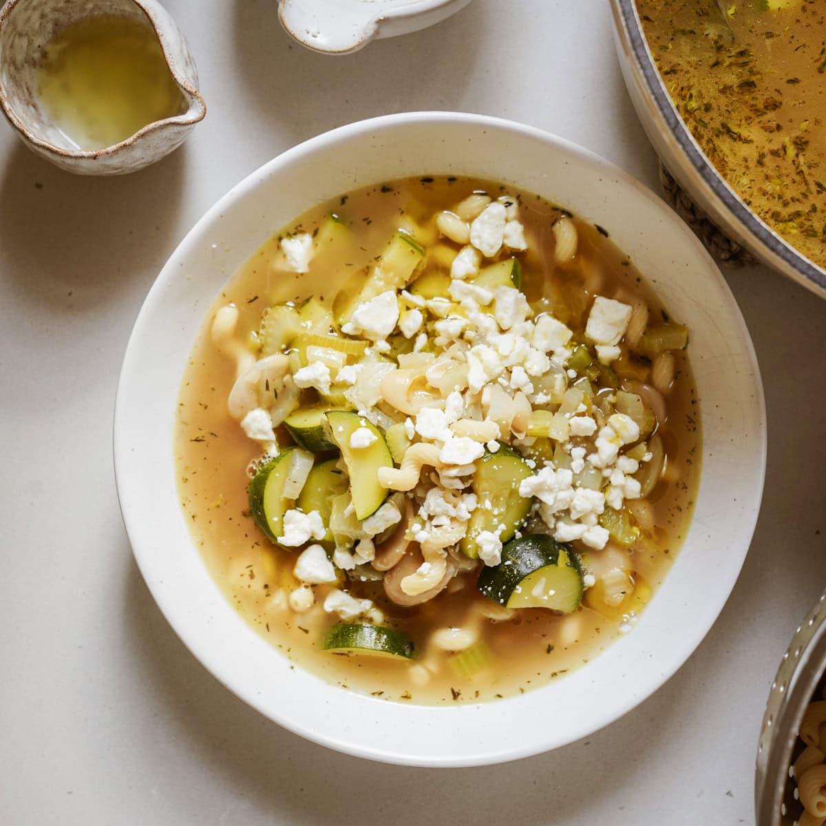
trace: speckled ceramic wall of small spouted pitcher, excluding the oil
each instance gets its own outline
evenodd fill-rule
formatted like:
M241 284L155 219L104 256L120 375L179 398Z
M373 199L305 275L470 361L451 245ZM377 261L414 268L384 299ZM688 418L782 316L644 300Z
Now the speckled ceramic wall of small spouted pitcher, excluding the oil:
M184 101L179 114L147 124L99 150L79 150L55 126L38 94L37 70L57 32L85 17L116 15L150 26ZM178 26L157 0L8 0L0 10L0 107L21 140L69 172L120 175L176 149L207 113L195 61Z

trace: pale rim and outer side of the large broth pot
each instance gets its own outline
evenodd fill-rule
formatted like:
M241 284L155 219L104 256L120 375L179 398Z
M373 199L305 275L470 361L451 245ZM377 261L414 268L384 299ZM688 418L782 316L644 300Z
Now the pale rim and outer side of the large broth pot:
M671 96L662 83L657 65L648 47L648 39L643 32L636 0L612 0L612 3L616 12L615 17L619 17L616 22L619 24L621 21L624 27L623 32L620 31L620 26L617 26L618 34L625 36L626 44L629 45L638 72L645 83L648 98L653 102L660 118L659 126L665 130L662 134L663 140L668 140L672 146L676 144L676 150L688 159L692 169L700 176L709 197L718 199L722 208L729 212L735 221L738 221L748 236L753 238L757 244L765 247L768 254L775 256L787 267L795 270L797 276L800 277L795 280L802 279L801 282L805 286L808 286L806 282L809 282L812 285L810 288L826 292L826 269L808 259L762 221L729 186L729 183L700 149L700 145L694 135L691 135L691 130L686 126L679 112L676 111ZM700 207L702 206L700 204Z

